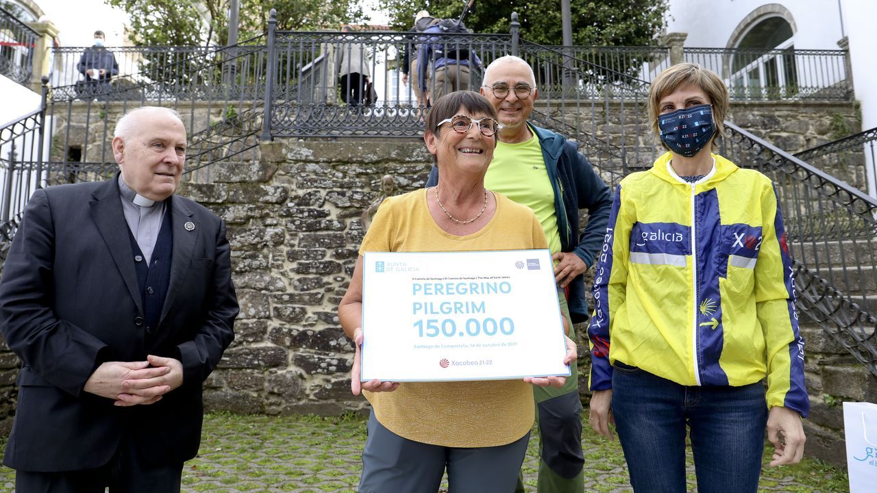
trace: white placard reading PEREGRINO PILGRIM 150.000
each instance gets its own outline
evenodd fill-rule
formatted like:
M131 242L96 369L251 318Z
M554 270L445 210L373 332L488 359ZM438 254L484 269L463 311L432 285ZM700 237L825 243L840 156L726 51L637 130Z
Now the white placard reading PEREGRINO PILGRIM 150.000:
M569 375L548 250L363 255L361 379Z

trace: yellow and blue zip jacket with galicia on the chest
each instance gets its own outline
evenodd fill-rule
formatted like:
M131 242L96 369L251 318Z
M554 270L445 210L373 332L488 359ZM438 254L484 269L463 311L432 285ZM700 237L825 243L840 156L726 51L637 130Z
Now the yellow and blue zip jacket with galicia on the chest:
M696 183L672 154L618 185L588 327L592 390L621 361L681 385L767 379L767 405L806 416L804 340L773 183L713 154Z

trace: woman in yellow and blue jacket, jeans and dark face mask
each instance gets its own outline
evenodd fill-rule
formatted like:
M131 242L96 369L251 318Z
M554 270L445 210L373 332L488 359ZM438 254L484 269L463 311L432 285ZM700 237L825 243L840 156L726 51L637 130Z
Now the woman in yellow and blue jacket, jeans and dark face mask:
M652 82L667 148L618 186L594 284L590 425L624 448L636 493L684 493L690 430L699 493L758 489L801 460L809 411L792 262L773 183L710 147L728 90L699 65ZM766 386L764 384L766 380Z

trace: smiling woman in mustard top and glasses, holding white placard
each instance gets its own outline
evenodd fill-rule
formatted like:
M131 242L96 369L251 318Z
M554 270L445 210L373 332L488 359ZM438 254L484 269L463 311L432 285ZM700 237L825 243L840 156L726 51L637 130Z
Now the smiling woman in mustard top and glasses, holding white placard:
M360 491L435 493L447 468L455 493L511 492L534 419L530 385L560 386L564 377L370 381L360 386L362 254L547 247L530 209L484 188L500 128L488 100L475 92L453 92L434 104L425 125L424 140L439 167L439 184L388 197L381 204L339 305L341 325L356 345L353 394L363 390L372 404ZM552 330L560 327L545 326L546 334ZM564 364L569 364L575 344L566 339Z

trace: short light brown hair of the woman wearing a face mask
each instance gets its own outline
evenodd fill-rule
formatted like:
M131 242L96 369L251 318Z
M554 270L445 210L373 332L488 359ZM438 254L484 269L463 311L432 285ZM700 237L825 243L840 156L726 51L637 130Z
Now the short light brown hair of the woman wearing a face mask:
M652 124L652 133L660 138L658 128L658 116L660 115L660 100L672 93L683 84L692 84L709 96L712 104L713 121L716 124L716 137L724 134L724 118L728 114L728 88L715 72L702 68L696 63L679 63L661 72L652 81L649 89L648 114ZM713 139L715 145L716 140ZM662 143L663 144L663 143ZM665 146L667 147L667 146Z

